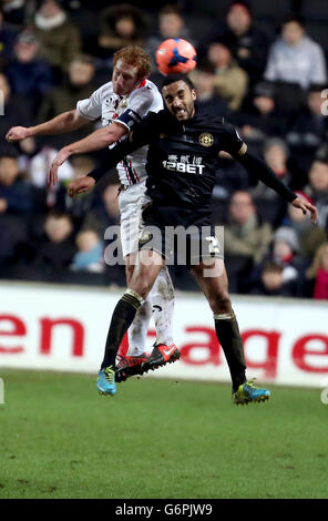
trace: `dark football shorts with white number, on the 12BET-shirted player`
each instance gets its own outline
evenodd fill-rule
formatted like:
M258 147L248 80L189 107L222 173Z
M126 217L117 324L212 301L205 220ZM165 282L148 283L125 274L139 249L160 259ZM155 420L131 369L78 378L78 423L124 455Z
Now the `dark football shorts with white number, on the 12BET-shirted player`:
M209 212L154 204L142 213L139 251L142 249L158 253L167 265L188 268L224 258Z

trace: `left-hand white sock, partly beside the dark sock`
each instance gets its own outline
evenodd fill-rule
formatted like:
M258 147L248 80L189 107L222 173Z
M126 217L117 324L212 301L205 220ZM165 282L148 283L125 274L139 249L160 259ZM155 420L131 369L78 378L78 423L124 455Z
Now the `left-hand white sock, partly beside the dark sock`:
M134 320L127 330L127 356L139 356L145 353L148 324L152 317L152 304L147 297L135 314Z

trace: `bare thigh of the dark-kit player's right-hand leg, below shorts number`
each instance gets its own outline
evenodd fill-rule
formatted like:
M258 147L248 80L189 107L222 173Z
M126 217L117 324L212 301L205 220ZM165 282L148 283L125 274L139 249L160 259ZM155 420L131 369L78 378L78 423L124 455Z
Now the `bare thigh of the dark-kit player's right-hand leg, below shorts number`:
M228 277L223 258L213 258L192 266L191 272L214 313L229 313Z

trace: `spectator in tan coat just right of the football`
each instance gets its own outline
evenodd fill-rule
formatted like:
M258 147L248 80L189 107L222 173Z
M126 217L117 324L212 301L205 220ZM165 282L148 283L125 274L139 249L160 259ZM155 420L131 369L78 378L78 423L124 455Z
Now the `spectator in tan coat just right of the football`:
M247 92L248 78L237 65L232 51L224 43L215 42L209 45L208 60L215 68L215 88L232 111L240 108Z

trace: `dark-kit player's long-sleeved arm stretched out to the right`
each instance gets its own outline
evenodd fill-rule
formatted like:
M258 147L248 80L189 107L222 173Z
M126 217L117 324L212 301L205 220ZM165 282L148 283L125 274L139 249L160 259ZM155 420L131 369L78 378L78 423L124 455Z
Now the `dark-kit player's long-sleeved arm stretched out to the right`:
M269 168L263 160L249 152L246 152L244 155L236 155L235 159L245 166L249 174L255 175L259 181L288 201L288 203L291 203L293 206L300 208L304 214L309 212L312 223L317 222L316 206L300 197L297 197L297 195L276 176L273 170Z

